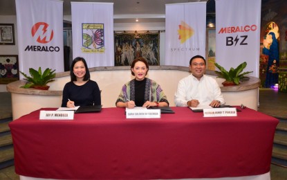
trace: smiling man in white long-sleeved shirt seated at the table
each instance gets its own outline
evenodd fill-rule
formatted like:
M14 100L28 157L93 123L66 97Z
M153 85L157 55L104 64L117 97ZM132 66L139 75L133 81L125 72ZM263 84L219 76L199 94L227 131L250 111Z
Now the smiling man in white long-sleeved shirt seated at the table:
M176 106L210 105L219 107L225 104L219 84L214 78L204 75L205 64L205 59L201 55L196 55L189 61L189 69L192 74L178 82L174 100Z

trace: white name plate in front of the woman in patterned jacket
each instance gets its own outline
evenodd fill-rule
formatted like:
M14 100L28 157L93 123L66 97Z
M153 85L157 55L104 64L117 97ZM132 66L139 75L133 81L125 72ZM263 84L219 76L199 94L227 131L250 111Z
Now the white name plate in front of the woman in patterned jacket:
M127 118L160 118L160 109L126 109Z

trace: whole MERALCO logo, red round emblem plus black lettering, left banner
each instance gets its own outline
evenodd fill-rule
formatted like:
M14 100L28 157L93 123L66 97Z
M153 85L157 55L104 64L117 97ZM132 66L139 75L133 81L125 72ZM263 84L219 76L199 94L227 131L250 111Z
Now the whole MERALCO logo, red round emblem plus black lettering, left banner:
M40 44L46 44L50 41L52 41L54 36L53 29L50 28L49 24L46 24L45 22L37 22L34 24L34 26L31 29L31 34L34 39ZM59 51L58 46L33 46L28 45L25 48L25 51Z

